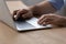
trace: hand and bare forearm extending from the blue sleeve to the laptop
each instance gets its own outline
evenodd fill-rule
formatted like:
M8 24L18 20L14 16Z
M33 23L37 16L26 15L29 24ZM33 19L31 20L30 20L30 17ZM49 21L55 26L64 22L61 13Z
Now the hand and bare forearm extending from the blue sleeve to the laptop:
M42 14L53 13L56 9L52 7L48 1L42 1L35 6L29 7L29 9L15 10L13 11L13 20L29 19L34 16L41 16Z

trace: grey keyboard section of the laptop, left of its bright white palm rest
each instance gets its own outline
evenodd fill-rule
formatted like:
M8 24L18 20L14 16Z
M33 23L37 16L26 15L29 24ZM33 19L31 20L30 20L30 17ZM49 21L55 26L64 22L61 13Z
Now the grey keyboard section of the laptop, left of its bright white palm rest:
M29 30L29 29L34 29L35 28L28 22L15 22L15 25L16 25L18 30Z

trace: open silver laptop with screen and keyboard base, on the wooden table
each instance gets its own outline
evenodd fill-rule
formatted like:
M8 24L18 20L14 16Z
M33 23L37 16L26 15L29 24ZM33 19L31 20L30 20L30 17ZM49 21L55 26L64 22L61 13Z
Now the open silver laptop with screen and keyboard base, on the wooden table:
M29 30L52 28L51 24L45 25L45 26L37 24L37 21L38 21L37 18L31 18L30 20L25 20L22 22L13 21L12 15L4 0L0 0L0 20L16 31L29 31Z

